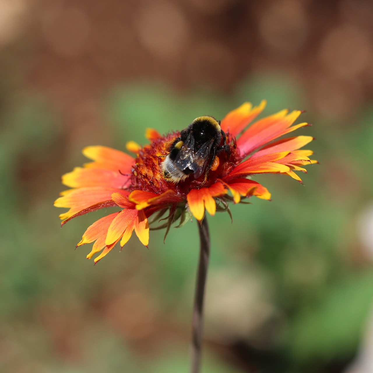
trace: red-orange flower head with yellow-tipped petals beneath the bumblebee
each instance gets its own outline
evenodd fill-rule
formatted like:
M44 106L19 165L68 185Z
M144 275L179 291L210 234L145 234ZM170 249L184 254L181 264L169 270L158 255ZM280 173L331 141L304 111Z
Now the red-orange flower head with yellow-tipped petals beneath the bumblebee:
M54 206L69 208L60 215L62 225L73 217L103 207L121 209L94 222L78 243L80 246L94 242L87 258L102 250L94 259L97 263L117 242L123 247L133 231L142 244L148 245L148 219L154 213L157 214L153 220L158 220L169 211L164 224L168 232L179 218L179 226L186 222L188 214L201 221L205 210L210 215L217 209L229 211L228 202L239 203L241 197L254 195L269 200L268 190L248 179L253 174L279 173L301 182L294 171L306 172L303 166L317 162L308 158L313 154L311 150L298 149L313 138L296 136L272 141L308 124L292 126L301 112L282 110L245 129L265 105L265 101L257 107L244 103L226 115L220 126L230 151L220 152L206 176L198 179L190 175L173 183L162 176L161 164L180 132L161 136L154 129L148 129L145 136L150 144L144 147L133 141L127 144L136 158L103 146L85 148L83 154L93 162L62 176L62 183L73 188L62 192L54 203Z

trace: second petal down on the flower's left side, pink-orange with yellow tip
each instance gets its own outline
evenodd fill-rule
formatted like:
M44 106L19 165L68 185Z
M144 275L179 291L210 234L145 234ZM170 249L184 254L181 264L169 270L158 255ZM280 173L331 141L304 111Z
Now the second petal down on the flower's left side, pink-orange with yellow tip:
M87 186L123 188L128 181L129 176L101 168L75 167L72 172L65 173L62 176L62 184L70 188L84 188Z

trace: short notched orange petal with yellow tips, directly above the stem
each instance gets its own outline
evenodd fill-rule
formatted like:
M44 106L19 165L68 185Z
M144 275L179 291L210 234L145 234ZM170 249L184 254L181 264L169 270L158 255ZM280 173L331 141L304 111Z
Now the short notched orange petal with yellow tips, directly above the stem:
M217 182L209 188L192 189L186 196L188 206L193 216L201 221L205 214L205 209L210 215L216 213L216 202L214 197L220 197L227 193L223 184Z

